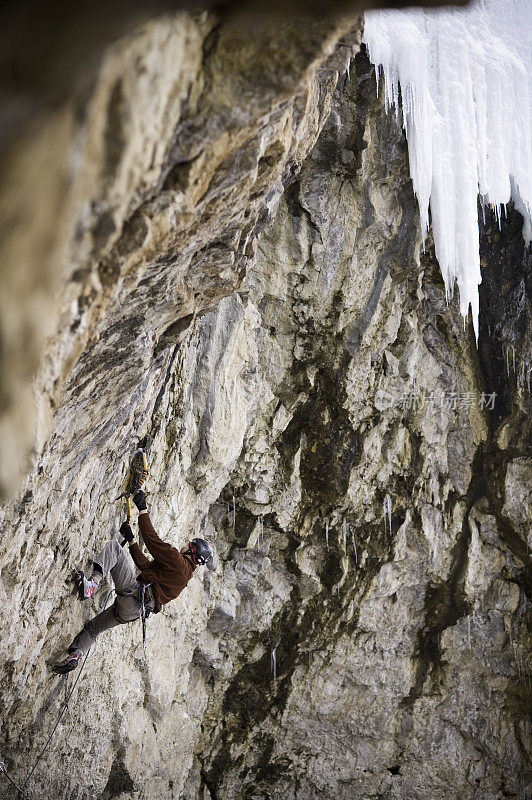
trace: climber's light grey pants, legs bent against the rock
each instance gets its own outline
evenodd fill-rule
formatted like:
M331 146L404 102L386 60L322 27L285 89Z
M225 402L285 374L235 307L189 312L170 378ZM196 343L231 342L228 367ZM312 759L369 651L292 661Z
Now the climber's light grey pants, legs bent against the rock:
M133 622L133 620L140 617L142 608L141 585L136 579L129 558L116 539L105 545L103 550L95 557L94 563L100 567L104 577L109 572L111 573L116 590L116 599L112 606L85 623L83 629L68 648L69 652L81 650L82 653L86 653L102 631L126 622ZM144 599L146 610L153 611L155 602L151 589L146 590Z

